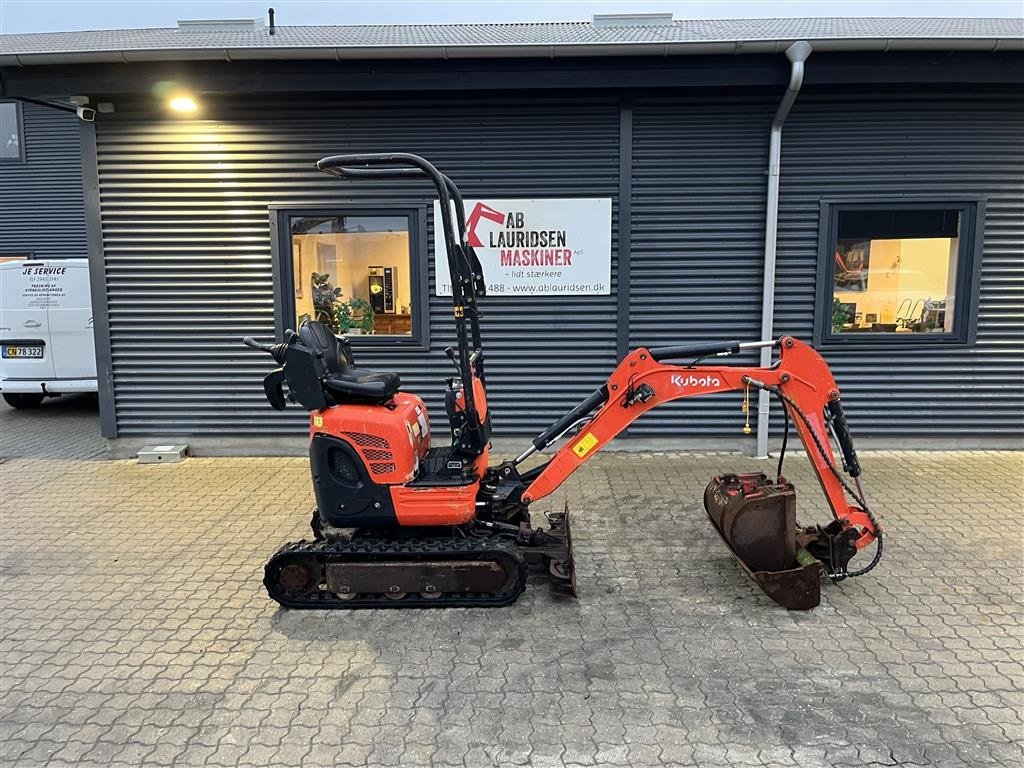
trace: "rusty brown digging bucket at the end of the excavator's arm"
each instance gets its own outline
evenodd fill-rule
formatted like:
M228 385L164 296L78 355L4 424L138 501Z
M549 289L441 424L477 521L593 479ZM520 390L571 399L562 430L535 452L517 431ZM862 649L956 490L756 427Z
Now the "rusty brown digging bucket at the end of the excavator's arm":
M821 563L797 546L797 494L764 474L718 475L705 509L722 541L755 583L779 605L807 610L821 600Z

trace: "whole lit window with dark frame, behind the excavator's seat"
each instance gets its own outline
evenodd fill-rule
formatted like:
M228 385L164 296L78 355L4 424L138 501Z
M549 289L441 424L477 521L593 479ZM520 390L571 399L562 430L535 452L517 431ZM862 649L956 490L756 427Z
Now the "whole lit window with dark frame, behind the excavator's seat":
M420 242L424 212L287 210L278 215L286 328L314 319L355 339L420 343L427 303L426 249Z

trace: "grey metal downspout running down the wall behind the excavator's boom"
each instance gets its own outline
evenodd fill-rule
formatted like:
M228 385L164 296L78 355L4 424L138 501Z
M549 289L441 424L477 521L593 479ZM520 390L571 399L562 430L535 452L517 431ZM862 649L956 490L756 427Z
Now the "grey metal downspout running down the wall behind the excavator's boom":
M771 341L775 315L775 244L778 238L778 182L782 159L782 125L793 102L797 100L800 86L804 84L804 61L811 55L811 44L800 40L785 49L785 57L791 61L790 85L775 111L771 123L771 138L768 143L768 203L765 211L765 276L761 296L761 340ZM761 348L761 366L771 365L771 347ZM758 392L758 440L759 459L768 457L768 392Z

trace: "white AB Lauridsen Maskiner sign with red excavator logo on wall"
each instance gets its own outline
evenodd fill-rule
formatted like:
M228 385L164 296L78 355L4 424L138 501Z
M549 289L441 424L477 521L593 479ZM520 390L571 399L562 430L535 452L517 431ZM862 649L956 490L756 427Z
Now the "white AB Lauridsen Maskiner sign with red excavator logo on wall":
M611 286L611 200L466 201L466 242L487 294L606 295ZM434 201L436 294L452 295L440 204Z

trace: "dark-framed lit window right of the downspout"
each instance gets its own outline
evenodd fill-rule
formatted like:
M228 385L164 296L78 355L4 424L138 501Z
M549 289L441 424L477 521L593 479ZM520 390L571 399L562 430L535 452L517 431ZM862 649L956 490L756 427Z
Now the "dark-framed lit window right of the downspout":
M973 338L977 218L977 202L825 204L817 341Z

